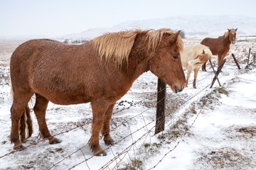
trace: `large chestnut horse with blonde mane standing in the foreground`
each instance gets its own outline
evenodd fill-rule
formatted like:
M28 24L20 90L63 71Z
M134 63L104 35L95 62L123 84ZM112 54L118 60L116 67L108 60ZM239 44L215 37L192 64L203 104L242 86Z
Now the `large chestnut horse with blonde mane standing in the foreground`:
M95 155L106 155L99 145L102 132L107 145L114 103L141 74L151 71L172 91L182 91L186 79L181 66L183 41L179 33L159 30L127 30L101 35L82 45L66 45L55 40L29 40L11 56L11 142L23 148L25 127L32 134L28 101L36 94L33 111L43 138L50 144L60 140L50 135L46 125L48 102L70 105L90 102L92 135L89 146ZM24 125L28 123L26 126ZM20 132L18 130L20 124ZM21 138L19 137L21 135Z

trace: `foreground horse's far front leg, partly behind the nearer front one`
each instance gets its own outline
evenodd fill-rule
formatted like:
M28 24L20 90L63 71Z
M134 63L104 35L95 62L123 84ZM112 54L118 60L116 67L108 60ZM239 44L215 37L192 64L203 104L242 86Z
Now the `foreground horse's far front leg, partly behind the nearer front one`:
M114 143L114 140L112 140L112 137L110 136L110 120L111 120L113 108L114 108L114 104L110 105L107 108L104 122L103 122L102 135L104 135L103 140L106 145L112 145Z

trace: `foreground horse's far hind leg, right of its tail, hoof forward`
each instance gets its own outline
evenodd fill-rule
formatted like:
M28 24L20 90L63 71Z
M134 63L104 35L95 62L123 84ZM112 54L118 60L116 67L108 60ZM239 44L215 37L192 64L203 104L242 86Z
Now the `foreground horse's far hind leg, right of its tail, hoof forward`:
M39 130L43 138L48 138L50 144L57 144L57 143L60 143L61 141L58 140L56 137L53 137L52 135L50 135L50 132L46 124L46 108L48 106L48 103L49 101L45 97L39 94L36 94L36 104L33 110L36 114Z

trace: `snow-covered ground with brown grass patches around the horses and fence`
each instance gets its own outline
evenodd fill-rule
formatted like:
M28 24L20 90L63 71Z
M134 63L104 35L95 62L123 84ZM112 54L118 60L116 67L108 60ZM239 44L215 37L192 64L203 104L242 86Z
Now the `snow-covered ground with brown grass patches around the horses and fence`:
M200 41L184 40L186 45ZM166 128L158 135L154 135L157 77L142 74L114 107L111 135L117 143L108 148L100 141L106 157L93 157L87 147L92 120L89 103L49 104L48 128L53 135L61 133L56 136L63 141L58 145L38 142L42 139L31 113L34 133L23 145L32 146L9 154L13 151L9 142L11 52L5 57L0 53L5 58L0 61L0 169L256 169L256 69L245 69L249 47L255 45L231 45L219 76L223 88L218 88L217 81L209 88L214 77L209 64L208 72L198 73L197 89L193 89L193 73L181 93L174 94L168 86ZM217 64L216 57L213 63Z

